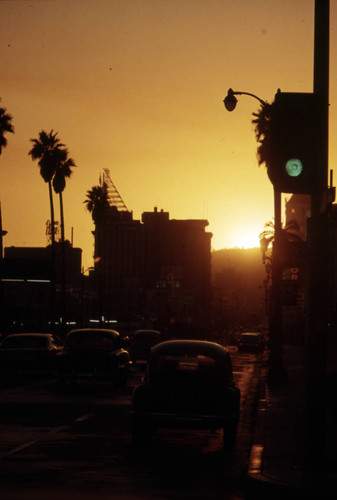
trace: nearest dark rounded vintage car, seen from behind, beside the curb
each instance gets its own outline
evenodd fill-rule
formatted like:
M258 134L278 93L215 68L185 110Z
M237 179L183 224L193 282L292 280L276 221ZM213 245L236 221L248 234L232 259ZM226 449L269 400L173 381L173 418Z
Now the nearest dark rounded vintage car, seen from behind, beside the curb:
M240 390L229 352L202 340L167 340L151 349L146 375L132 396L132 435L147 440L160 427L223 429L235 442Z

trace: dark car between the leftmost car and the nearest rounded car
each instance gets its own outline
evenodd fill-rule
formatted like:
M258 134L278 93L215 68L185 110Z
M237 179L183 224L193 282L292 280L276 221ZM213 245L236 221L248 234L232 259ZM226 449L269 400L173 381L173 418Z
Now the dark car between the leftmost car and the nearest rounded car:
M77 329L66 335L64 349L56 357L54 374L60 385L79 379L126 384L129 365L129 353L117 331Z

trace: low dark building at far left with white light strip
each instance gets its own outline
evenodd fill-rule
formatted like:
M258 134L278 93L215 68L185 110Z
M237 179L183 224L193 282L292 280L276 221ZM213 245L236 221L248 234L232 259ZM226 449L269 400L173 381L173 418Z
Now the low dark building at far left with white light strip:
M56 323L80 316L82 250L65 242L65 282L61 243L55 245L55 273L51 247L6 247L0 260L1 322L14 330L48 330L51 321L52 287L55 282ZM53 279L55 277L55 279ZM65 288L64 288L64 285ZM62 303L65 291L66 309ZM66 315L66 317L64 317Z

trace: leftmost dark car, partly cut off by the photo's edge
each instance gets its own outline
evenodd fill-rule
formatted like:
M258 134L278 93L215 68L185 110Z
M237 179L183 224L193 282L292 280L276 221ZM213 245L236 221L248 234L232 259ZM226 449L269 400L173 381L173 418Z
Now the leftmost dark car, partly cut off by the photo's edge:
M13 333L0 344L2 375L48 374L62 349L58 337L50 333Z

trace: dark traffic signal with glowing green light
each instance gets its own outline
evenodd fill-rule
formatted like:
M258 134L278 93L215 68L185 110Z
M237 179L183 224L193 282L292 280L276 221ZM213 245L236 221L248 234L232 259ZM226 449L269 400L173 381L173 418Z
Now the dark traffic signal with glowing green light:
M268 176L281 193L311 194L323 185L317 96L278 92L270 116Z

